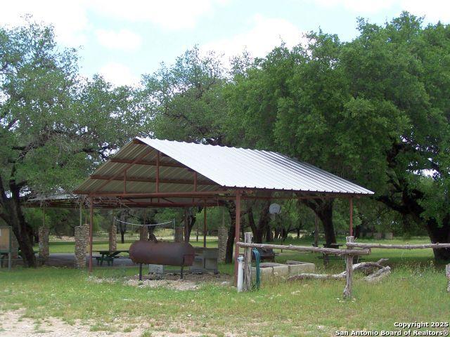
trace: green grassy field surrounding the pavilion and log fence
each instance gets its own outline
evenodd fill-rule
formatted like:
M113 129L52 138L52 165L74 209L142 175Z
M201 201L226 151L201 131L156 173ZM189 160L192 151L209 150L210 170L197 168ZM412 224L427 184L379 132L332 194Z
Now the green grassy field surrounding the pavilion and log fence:
M214 240L209 244L214 245ZM304 239L302 244L310 242ZM70 243L52 244L51 251L65 249L70 251ZM69 324L81 319L91 331L131 331L141 322L150 322L142 336L151 336L152 331L193 331L205 336L333 336L336 330L395 330L394 322L449 321L444 266L432 263L431 250L374 249L364 258L382 257L390 258L392 275L369 285L356 274L353 300L342 300L341 281L263 284L261 290L248 293L214 283L195 291L174 291L125 286L123 277L136 275L136 267L98 268L96 277L116 280L101 284L91 282L84 271L41 267L0 272L0 309L25 308L25 317L37 322L47 316ZM287 259L311 261L323 271L317 254L283 251L277 256L281 262ZM344 267L342 260L332 260L325 272L340 272ZM221 265L220 270L231 272L232 265Z

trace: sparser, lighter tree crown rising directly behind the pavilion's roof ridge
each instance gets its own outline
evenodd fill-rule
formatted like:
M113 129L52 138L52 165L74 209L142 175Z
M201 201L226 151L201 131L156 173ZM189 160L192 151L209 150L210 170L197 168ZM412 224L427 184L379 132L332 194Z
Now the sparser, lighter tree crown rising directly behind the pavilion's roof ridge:
M174 65L162 64L143 76L141 93L153 136L170 140L221 143L224 69L214 53L186 51Z

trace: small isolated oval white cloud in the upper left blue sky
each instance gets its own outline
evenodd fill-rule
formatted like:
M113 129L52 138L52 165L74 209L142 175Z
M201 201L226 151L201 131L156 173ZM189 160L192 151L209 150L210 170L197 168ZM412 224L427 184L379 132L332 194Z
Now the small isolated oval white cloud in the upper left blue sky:
M141 37L128 29L120 29L118 32L106 29L97 29L98 42L107 48L133 50L139 49L142 44Z

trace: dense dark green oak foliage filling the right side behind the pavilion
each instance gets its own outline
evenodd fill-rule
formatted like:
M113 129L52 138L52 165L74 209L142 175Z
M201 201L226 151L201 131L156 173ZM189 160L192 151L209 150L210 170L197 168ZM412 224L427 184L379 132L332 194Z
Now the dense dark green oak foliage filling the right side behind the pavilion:
M310 33L236 72L227 141L308 161L420 225L449 227L450 26L402 13L358 29L345 43Z

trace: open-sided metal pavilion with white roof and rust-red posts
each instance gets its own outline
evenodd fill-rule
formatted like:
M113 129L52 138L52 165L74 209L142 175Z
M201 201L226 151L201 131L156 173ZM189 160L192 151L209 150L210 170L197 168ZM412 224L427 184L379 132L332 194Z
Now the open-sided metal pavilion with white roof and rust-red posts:
M268 197L269 192L276 192L276 197ZM207 206L234 201L237 257L242 199L347 198L352 234L352 199L373 194L364 187L278 152L139 137L99 166L74 193L89 198L89 271L92 270L95 207L113 207L120 203L131 208L204 206L206 210ZM236 270L237 262L235 273Z

